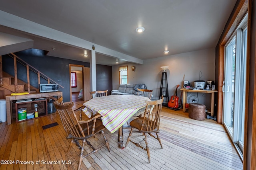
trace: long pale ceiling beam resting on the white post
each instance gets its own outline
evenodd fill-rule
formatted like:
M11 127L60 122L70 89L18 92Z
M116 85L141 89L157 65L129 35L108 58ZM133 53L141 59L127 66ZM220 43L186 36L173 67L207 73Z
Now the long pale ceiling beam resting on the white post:
M141 59L137 59L135 57L120 53L118 51L114 51L112 49L108 49L106 47L94 44L92 42L86 41L84 39L80 39L78 37L74 37L72 35L63 33L61 31L52 29L50 27L40 25L38 23L26 20L24 18L14 16L12 14L9 14L1 10L0 10L0 24L6 27L14 28L20 31L24 31L26 33L51 39L53 41L58 41L60 43L80 47L86 50L92 50L92 46L94 45L95 51L97 53L122 59L131 63L143 64L143 60Z

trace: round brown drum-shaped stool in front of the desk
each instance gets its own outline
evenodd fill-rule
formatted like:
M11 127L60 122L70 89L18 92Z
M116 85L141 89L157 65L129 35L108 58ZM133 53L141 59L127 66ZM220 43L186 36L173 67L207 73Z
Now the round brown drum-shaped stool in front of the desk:
M190 103L188 106L188 117L195 120L205 119L205 105Z

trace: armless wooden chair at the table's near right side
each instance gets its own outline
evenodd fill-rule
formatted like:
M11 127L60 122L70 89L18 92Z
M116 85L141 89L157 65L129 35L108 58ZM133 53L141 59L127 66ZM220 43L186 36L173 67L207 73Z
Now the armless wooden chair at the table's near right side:
M161 148L163 148L160 137L158 136L158 133L160 132L160 115L162 110L162 104L164 101L164 97L162 96L161 99L156 101L149 101L145 100L147 106L145 109L145 113L143 117L136 118L130 122L130 126L132 127L130 134L128 136L127 142L125 147L127 147L128 143L131 141L133 144L135 144L137 147L140 147L147 151L148 153L148 162L150 162L150 152L148 147L148 137L154 137L155 139L158 139ZM148 110L148 106L150 106L150 110ZM151 107L154 106L154 107ZM144 134L144 139L140 141L139 143L136 143L131 140L132 131L133 129L138 129L141 133ZM152 133L156 133L156 136L154 136ZM146 143L146 148L140 145L143 141Z

